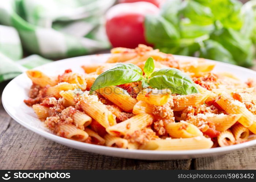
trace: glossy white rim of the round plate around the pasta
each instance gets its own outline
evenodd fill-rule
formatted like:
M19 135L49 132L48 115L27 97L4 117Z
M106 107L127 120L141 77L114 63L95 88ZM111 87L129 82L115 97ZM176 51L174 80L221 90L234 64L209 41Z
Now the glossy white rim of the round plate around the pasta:
M108 56L110 54L100 54L101 56ZM77 58L84 58L84 57L89 57L89 56L95 56L95 55L85 55L85 56L78 56L78 57L74 57L74 58L67 58L67 59L62 59L62 60L58 60L58 61L55 61L55 62L50 62L50 63L47 63L47 64L44 64L42 66L39 66L39 67L35 67L33 69L37 69L37 68L40 68L40 67L43 67L43 66L48 66L49 64L55 64L55 63L59 63L61 61L70 61L72 59L77 59ZM98 56L98 55L96 55ZM191 56L181 56L181 55L173 55L174 58L178 58L178 59L184 59L184 58L187 58L187 59L191 59L191 60L195 60L195 59L199 59L199 58L196 58L196 57L191 57ZM226 66L229 66L229 67L234 67L234 68L239 68L239 69L242 69L242 70L245 70L245 71L249 71L249 72L252 72L254 74L256 74L256 71L253 71L253 70L250 70L248 68L244 68L244 67L240 67L240 66L237 66L237 65L232 65L232 64L229 64L229 63L223 63L223 62L218 62L218 61L215 61L215 60L209 60L209 59L204 59L206 61L210 61L210 62L214 62L216 64L224 64ZM120 148L115 148L115 147L108 147L108 146L99 146L99 145L94 145L94 144L90 144L90 143L84 143L84 142L79 142L79 141L74 141L74 140L71 140L71 139L67 139L67 138L63 138L63 137L59 137L53 133L50 133L48 131L44 131L44 130L41 130L39 128L34 128L32 126L30 126L28 123L26 122L23 122L22 119L18 118L17 116L13 115L11 113L11 111L8 110L8 106L6 105L7 101L5 101L5 95L7 94L7 90L9 89L10 85L13 84L15 82L15 80L19 79L19 77L22 77L24 76L24 74L26 73L22 73L18 76L16 76L14 79L12 79L4 88L3 90L3 93L2 93L2 96L1 96L1 100L2 100L2 104L3 104L3 107L5 109L5 111L8 113L8 115L11 116L12 119L14 119L16 122L18 122L19 124L21 124L22 126L26 127L27 129L29 129L30 131L33 131L37 134L39 134L40 136L44 137L44 138L47 138L49 140L52 140L54 142L57 142L57 143L61 143L62 145L66 145L68 147L70 147L70 145L72 146L77 146L78 148L82 147L82 149L79 149L79 150L84 150L86 151L86 149L97 149L97 150L106 150L106 151L109 151L109 152L118 152L118 153L122 153L122 154L147 154L147 155L151 155L151 156L179 156L179 155L207 155L207 154L221 154L221 153L228 153L228 152L231 152L231 151L235 151L235 150L240 150L240 149L244 149L244 148L247 148L247 147L251 147L251 146L254 146L256 145L256 140L252 140L252 141L248 141L248 142L244 142L244 143L240 143L240 144L236 144L236 145L231 145L231 146L226 146L226 147L216 147L216 148L211 148L211 149L197 149L197 150L166 150L166 151L161 151L161 150L136 150L136 149L120 149ZM37 118L36 118L37 119ZM76 147L73 147L73 148L76 148ZM77 148L77 149L78 149ZM97 153L97 151L95 151L95 153ZM113 155L115 156L115 155ZM136 158L136 157L134 157ZM192 158L192 157L191 157Z

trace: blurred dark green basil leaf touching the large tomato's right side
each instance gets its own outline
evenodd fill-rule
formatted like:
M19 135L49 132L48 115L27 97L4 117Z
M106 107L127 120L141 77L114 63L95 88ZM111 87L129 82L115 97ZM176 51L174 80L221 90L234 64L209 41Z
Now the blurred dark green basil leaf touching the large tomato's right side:
M180 38L176 27L159 15L146 15L144 27L148 43L156 44Z

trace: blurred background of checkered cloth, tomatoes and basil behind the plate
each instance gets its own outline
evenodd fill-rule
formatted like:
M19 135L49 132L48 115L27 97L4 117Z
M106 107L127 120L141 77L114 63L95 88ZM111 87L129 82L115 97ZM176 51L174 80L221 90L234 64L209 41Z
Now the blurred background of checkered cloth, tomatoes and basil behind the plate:
M0 1L0 82L53 60L146 44L252 67L256 0Z

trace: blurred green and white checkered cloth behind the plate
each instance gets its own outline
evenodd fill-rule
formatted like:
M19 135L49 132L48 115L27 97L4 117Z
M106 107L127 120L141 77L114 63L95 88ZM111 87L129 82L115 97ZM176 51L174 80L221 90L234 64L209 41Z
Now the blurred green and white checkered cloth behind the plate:
M0 82L49 59L109 48L103 14L115 1L0 0ZM20 60L23 50L36 55Z

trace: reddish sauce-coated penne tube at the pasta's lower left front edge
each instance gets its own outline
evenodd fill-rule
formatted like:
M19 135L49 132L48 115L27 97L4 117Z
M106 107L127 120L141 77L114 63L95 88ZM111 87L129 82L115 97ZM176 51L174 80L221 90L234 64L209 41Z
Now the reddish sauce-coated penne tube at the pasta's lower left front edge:
M61 124L58 135L79 142L84 142L89 137L87 132L80 130L72 124Z

